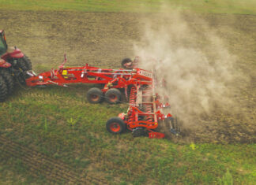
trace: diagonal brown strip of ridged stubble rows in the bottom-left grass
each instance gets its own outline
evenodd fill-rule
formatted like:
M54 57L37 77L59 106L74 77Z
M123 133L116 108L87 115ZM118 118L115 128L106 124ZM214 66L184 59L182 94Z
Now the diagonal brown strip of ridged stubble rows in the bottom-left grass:
M30 170L32 176L44 176L48 183L68 184L107 184L107 180L101 177L80 177L75 169L70 168L62 161L52 159L36 150L29 149L17 142L13 142L0 135L0 151L2 158L14 157L20 159Z

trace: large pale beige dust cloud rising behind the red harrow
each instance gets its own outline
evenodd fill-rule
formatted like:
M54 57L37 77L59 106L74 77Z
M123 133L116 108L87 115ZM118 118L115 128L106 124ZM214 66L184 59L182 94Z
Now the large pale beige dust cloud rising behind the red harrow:
M214 28L194 13L156 13L141 20L141 40L134 54L141 57L140 68L154 70L161 97L168 96L171 113L183 124L198 124L217 111L235 111L233 101L241 79L237 58ZM183 125L184 126L184 125Z

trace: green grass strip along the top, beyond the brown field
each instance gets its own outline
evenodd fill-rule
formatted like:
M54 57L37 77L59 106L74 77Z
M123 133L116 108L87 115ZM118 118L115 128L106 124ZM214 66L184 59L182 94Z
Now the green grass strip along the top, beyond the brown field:
M198 13L256 14L254 0L0 0L0 9L34 11L157 13L174 9Z

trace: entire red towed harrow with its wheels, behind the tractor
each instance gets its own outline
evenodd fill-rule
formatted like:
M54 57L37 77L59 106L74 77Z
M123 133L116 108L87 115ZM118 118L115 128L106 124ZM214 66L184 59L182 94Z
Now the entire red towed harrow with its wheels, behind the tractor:
M141 68L96 68L87 64L67 68L64 66L66 61L64 55L64 61L58 69L51 69L39 75L27 72L28 76L31 76L26 80L27 86L53 84L66 87L69 83L99 83L103 88L92 87L87 93L88 102L100 103L105 99L108 103L115 104L121 101L121 91L124 91L129 100L127 113L120 113L119 117L107 120L107 131L120 134L128 129L135 137L149 135L149 138L164 138L164 134L157 132L156 128L159 124L168 122L171 125L171 133L179 134L177 120L170 113L163 113L163 109L170 105L160 102L160 96L156 93L156 76L153 72ZM134 62L132 65L134 66Z

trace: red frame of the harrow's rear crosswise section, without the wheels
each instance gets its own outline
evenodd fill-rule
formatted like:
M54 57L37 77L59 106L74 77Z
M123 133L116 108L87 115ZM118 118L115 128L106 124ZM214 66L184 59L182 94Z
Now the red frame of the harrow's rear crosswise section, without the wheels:
M168 119L170 113L164 115L162 109L168 107L167 104L159 102L159 96L155 93L155 83L152 80L147 86L138 81L130 88L130 106L127 113L119 114L119 117L126 123L127 128L133 131L134 128L144 128L149 133L149 138L164 138L164 134L153 131L160 122Z

